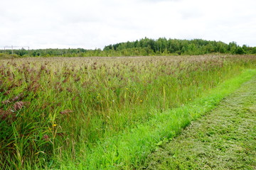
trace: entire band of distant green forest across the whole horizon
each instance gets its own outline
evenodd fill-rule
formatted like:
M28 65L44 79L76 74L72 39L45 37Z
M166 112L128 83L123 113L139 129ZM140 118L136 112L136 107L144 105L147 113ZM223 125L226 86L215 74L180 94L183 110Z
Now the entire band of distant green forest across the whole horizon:
M205 55L209 53L223 54L256 54L256 47L236 42L212 40L177 40L159 38L157 40L142 38L133 42L121 42L107 45L103 50L77 49L39 49L39 50L0 50L0 58L5 57L115 57L115 56L152 56L152 55Z

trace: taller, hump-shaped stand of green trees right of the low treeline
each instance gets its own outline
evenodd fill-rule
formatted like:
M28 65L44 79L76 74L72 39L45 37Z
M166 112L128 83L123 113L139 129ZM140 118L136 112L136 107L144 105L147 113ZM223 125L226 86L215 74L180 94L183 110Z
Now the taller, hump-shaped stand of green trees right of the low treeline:
M114 45L105 46L104 50L124 52L139 52L141 55L204 55L213 52L231 54L256 54L256 47L242 45L236 42L226 44L221 41L210 40L177 40L159 38L157 40L143 38L134 42L121 42Z

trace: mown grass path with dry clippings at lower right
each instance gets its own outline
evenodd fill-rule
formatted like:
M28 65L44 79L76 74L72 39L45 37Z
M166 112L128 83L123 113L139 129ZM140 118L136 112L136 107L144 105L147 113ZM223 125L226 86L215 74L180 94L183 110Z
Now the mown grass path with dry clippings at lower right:
M256 77L159 146L142 169L256 169Z

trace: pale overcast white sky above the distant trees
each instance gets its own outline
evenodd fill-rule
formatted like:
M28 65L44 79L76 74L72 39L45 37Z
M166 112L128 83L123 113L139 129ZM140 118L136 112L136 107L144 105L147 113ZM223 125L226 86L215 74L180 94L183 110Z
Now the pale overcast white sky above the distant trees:
M255 47L255 9L255 0L1 1L0 49L102 49L145 37Z

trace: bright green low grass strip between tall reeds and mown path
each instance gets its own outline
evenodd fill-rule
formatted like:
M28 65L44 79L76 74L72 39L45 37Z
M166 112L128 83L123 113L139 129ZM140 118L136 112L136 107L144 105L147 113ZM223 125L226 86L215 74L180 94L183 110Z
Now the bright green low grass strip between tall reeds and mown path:
M91 147L90 152L83 153L87 145L80 147L80 155L76 160L63 159L60 169L139 169L146 157L163 142L173 139L191 120L205 115L215 108L223 98L233 93L242 83L256 75L255 69L247 69L234 79L219 84L185 106L171 109L164 113L156 113L151 120L137 128L127 129L122 134L110 137ZM82 145L82 144L81 144ZM83 149L84 148L84 149Z

